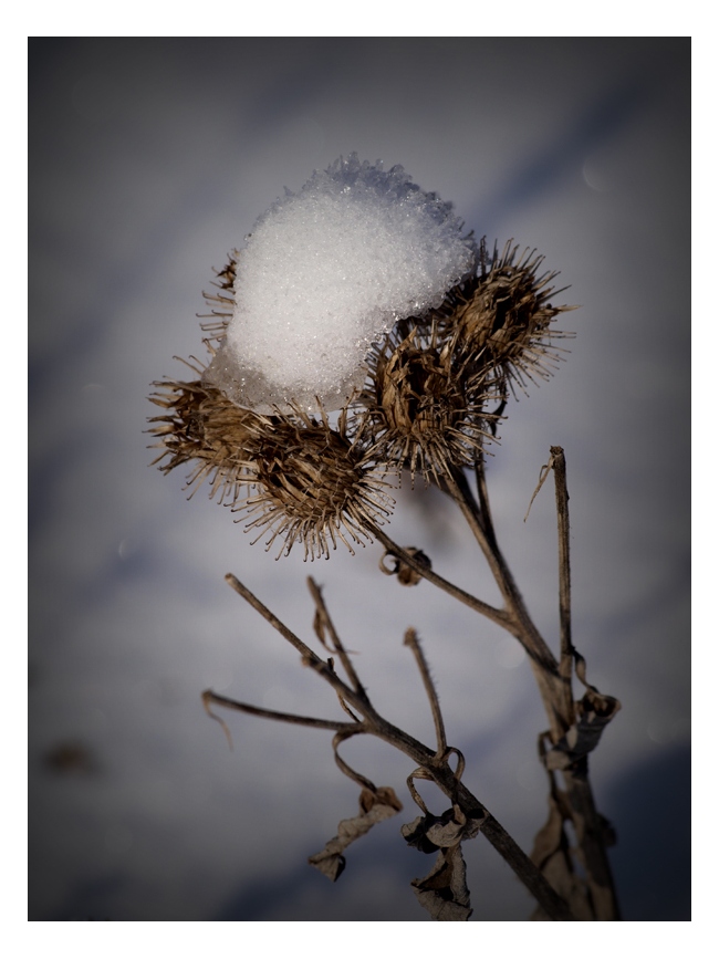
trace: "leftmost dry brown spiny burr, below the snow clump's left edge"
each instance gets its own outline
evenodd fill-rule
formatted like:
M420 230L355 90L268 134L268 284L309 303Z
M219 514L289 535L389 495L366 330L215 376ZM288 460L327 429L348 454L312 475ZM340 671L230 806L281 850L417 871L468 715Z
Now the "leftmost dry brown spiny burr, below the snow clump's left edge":
M190 369L202 373L199 363ZM148 431L159 439L153 447L163 450L153 465L160 463L159 469L168 473L196 461L186 483L186 489L194 487L190 497L209 477L210 499L217 494L220 503L237 503L252 479L250 445L267 418L235 406L200 379L163 379L153 386L157 392L150 402L166 410L149 420Z

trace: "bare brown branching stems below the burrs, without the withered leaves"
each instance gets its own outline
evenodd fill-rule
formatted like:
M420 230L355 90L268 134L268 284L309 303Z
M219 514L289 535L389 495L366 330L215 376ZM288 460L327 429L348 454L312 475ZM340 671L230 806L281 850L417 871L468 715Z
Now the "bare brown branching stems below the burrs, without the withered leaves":
M403 550L394 543L382 529L373 528L371 532L379 540L389 554L396 556L421 577L434 583L436 586L459 600L465 605L468 605L470 608L480 613L482 616L486 616L491 622L502 626L521 642L530 657L530 663L550 719L551 741L558 743L570 729L574 719L574 705L571 690L574 650L571 640L570 618L569 497L566 494L565 469L563 469L564 458L561 448L552 448L552 456L553 459L548 465L548 468L552 466L555 467L558 463L560 467L556 478L561 584L561 658L559 664L530 618L521 594L514 583L513 576L498 546L489 510L483 465L481 462L478 462L476 468L478 490L477 499L475 499L471 493L467 479L461 470L455 470L446 478L444 490L451 496L460 507L470 529L472 530L475 539L487 557L504 600L504 609L497 609L496 607L483 603L481 600L478 600L476 596L466 593L463 590L460 590L444 580L441 576L438 576L428 569L425 563L420 562L411 553ZM274 616L274 614L268 609L268 607L264 606L246 586L243 586L237 577L228 574L226 578L237 593L250 603L254 609L257 609L289 643L294 646L295 649L301 653L303 663L314 669L335 689L343 708L356 721L350 723L333 723L329 720L313 719L310 717L295 717L279 713L273 710L260 710L257 707L249 707L246 703L235 703L232 700L226 700L223 697L219 697L209 691L205 694L206 702L211 701L216 705L231 706L231 708L239 709L240 711L267 716L272 719L282 719L288 722L334 730L336 733L335 759L337 764L343 772L347 775L352 775L355 781L362 782L363 784L366 784L369 781L365 780L364 776L361 776L359 773L355 773L354 770L351 770L351 768L347 767L344 760L338 757L336 747L348 737L358 733L371 733L390 743L406 755L410 757L420 769L423 769L425 773L437 783L445 794L451 799L452 803L456 803L459 806L463 814L471 814L475 819L481 819L480 831L482 834L509 863L550 918L574 918L566 903L554 889L552 889L542 873L519 848L519 846L517 846L514 841L497 822L497 820L494 820L484 806L466 789L450 769L448 755L451 753L451 750L447 749L444 720L439 709L436 690L431 682L426 660L424 659L418 646L414 630L407 632L405 642L413 649L430 702L437 736L437 750L435 752L429 750L418 740L414 739L414 737L387 722L387 720L378 716L374 710L366 690L359 681L352 660L332 623L332 618L322 598L320 587L312 578L309 580L309 586L316 607L315 630L323 643L325 642L325 630L329 634L332 642L332 648L340 657L352 686L348 686L340 679L334 671L332 660L327 664L317 657L305 643L281 623L281 621L278 619L278 617ZM354 713L348 709L347 703L351 703L354 709L364 717L364 719L356 719ZM564 770L564 782L567 802L572 811L572 820L580 845L581 858L587 875L586 883L591 895L592 915L597 919L616 919L618 918L618 908L616 905L616 895L612 883L611 869L606 858L604 820L598 815L594 806L591 786L586 778L586 760L584 760L583 763L574 764L574 767ZM480 810L481 815L478 815L478 811Z

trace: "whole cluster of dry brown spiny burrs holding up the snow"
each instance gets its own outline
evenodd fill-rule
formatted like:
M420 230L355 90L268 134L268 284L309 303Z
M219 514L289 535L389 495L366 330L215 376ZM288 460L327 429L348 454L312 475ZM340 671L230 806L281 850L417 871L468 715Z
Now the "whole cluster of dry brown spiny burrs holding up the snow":
M192 493L209 478L210 498L249 511L247 529L259 532L253 542L267 535L269 550L283 541L279 555L298 542L305 560L329 556L337 541L354 553L353 544L364 545L392 512L383 470L406 468L413 483L419 472L441 484L476 462L492 438L498 416L487 411L488 402L504 400L514 383L523 388L524 376L550 375L560 352L553 340L567 334L549 327L572 307L548 302L556 274L538 275L542 258L530 251L518 258L518 249L510 242L501 256L494 250L487 269L482 243L479 272L441 306L399 320L374 343L365 386L334 427L319 397L315 416L294 400L259 413L212 384L236 309L233 251L216 271L218 292L204 294L209 365L195 359L188 365L196 379L154 384L150 399L165 410L150 420L161 449L155 462L164 472L194 462Z

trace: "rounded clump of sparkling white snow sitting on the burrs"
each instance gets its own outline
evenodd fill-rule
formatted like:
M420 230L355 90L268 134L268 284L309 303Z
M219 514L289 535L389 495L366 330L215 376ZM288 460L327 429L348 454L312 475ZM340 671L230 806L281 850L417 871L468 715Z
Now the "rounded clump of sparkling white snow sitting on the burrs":
M285 190L240 253L235 313L206 379L239 406L338 408L369 345L438 306L475 265L451 204L356 154Z

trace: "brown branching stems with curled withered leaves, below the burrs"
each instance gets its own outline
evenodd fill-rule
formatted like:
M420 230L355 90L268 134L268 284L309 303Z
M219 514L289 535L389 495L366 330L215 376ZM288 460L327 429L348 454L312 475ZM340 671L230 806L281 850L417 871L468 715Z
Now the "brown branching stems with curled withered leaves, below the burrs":
M473 535L494 575L503 597L503 608L491 606L439 576L429 559L416 548L403 549L379 528L372 533L385 548L381 559L384 573L397 574L405 585L427 580L454 598L475 609L514 635L529 655L550 729L540 737L540 757L550 781L550 819L540 830L531 857L517 845L487 807L462 782L465 759L448 746L439 699L416 629L405 632L404 645L411 653L420 675L435 726L435 748L415 739L381 716L367 695L329 613L322 591L312 577L308 586L314 601L314 633L329 657L320 657L308 644L285 626L236 576L226 576L229 585L289 642L301 656L303 665L313 669L335 691L340 706L348 720L298 716L263 709L220 696L212 690L202 694L208 713L219 721L231 744L225 721L211 707L222 707L281 722L331 730L335 762L344 775L361 788L359 814L343 820L337 835L325 848L310 858L330 878L336 880L345 867L344 851L377 822L395 815L402 804L389 786L376 786L367 776L353 769L341 755L342 743L355 736L375 736L405 753L416 764L409 775L409 793L423 815L403 826L406 841L424 852L437 852L438 858L424 879L415 879L413 887L420 904L435 919L465 920L471 915L469 892L465 882L461 843L481 832L514 871L538 903L534 918L554 920L617 919L618 907L606 859L606 845L611 837L608 824L594 806L588 783L587 757L600 740L606 725L613 719L619 702L603 696L586 681L586 664L572 644L571 591L569 564L569 494L566 468L561 447L552 447L551 458L542 470L540 484L553 470L556 489L556 510L560 559L560 656L554 656L539 634L524 606L521 594L498 546L489 509L483 460L476 462L477 497L467 477L452 469L444 478L441 489L461 509ZM530 503L531 505L531 503ZM386 565L394 557L395 565ZM400 577L404 575L404 580ZM340 666L344 678L337 673ZM572 677L576 675L585 687L583 698L575 702ZM450 760L456 758L456 769ZM564 790L560 790L555 775L561 774ZM433 781L448 796L451 806L439 816L427 809L416 781ZM571 822L579 846L571 849L564 824ZM579 868L579 871L577 871ZM582 875L583 874L583 875Z

